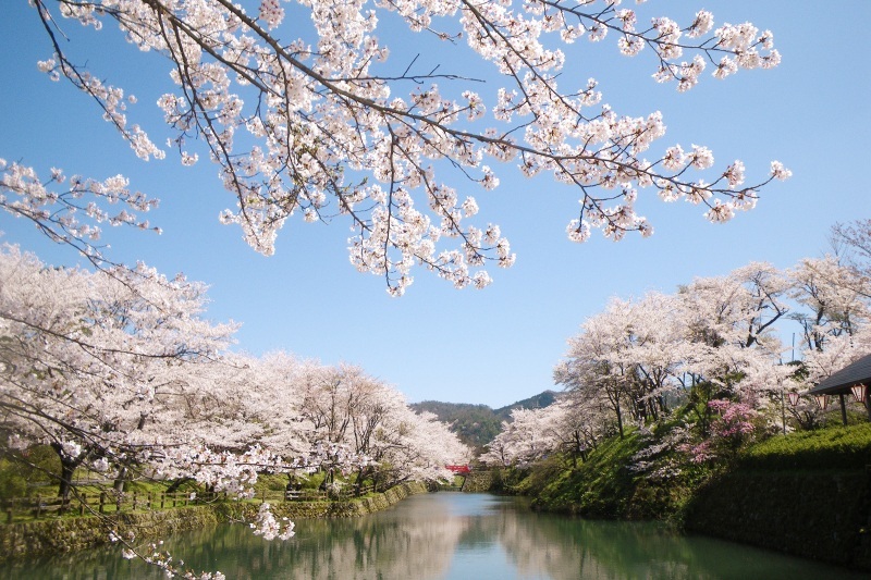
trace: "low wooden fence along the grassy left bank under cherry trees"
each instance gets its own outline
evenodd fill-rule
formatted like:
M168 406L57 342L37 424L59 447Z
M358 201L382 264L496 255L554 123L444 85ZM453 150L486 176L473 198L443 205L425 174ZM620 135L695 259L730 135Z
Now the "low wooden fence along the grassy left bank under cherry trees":
M328 502L348 501L360 495L371 493L373 488L367 485L356 488L348 485L338 493L321 490L286 490L258 492L254 499L265 502ZM15 516L27 518L44 518L64 514L116 514L120 511L169 509L189 505L201 505L228 499L226 493L209 492L128 492L115 493L105 491L100 493L79 493L68 497L65 501L57 496L12 497L2 499L5 522L11 523Z

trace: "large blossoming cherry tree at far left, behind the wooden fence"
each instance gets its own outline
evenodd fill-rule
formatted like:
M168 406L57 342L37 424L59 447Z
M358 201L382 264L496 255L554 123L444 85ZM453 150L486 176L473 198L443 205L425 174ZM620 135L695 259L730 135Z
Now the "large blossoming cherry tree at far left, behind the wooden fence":
M52 269L8 246L0 268L2 429L11 447L56 449L63 497L83 461L123 469L154 449L158 393L235 330L199 318L204 285L144 266Z

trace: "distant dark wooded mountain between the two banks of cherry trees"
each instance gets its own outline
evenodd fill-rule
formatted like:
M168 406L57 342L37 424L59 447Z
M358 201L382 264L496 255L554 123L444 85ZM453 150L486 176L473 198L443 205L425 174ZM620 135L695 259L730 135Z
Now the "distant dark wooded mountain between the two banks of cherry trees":
M551 405L556 399L554 391L544 391L529 398L518 400L506 407L492 409L487 405L468 403L442 403L424 400L409 406L417 412L429 411L440 421L451 425L459 441L470 447L480 448L493 441L502 428L502 421L511 419L514 409L539 409Z

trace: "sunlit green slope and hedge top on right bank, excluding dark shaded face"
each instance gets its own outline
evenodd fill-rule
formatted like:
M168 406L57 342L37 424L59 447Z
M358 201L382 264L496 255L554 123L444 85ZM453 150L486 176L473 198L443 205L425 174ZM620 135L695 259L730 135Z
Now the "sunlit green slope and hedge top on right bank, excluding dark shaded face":
M685 507L702 490L731 473L850 471L864 477L866 466L871 466L871 423L773 436L749 446L728 464L695 465L679 457L679 452L671 452L659 460L671 460L679 469L661 477L631 469L636 454L650 444L650 439L634 431L624 440L604 441L574 469L551 457L515 474L506 485L533 496L533 506L549 511L679 522Z

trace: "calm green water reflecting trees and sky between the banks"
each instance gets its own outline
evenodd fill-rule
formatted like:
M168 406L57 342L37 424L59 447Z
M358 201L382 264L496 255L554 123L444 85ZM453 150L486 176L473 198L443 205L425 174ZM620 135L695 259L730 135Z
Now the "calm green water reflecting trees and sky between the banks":
M867 578L800 558L654 523L535 514L487 494L409 497L358 519L300 520L287 542L243 525L180 533L164 543L195 570L229 579L789 579ZM119 550L0 565L0 578L162 578Z

